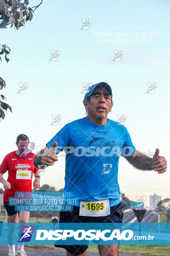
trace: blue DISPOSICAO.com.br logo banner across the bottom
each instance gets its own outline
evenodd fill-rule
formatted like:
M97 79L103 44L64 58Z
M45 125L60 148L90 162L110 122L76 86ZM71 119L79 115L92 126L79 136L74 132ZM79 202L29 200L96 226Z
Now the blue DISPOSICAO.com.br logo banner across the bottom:
M0 223L0 244L170 244L168 223Z

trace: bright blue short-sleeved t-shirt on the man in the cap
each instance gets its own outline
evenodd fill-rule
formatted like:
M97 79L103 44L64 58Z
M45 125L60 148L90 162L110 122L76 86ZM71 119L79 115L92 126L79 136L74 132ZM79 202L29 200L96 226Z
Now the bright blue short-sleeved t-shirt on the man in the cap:
M66 124L46 145L57 141L57 154L65 150L65 187L82 201L110 200L119 204L119 156L130 156L136 148L124 125L108 119L96 125L87 117Z

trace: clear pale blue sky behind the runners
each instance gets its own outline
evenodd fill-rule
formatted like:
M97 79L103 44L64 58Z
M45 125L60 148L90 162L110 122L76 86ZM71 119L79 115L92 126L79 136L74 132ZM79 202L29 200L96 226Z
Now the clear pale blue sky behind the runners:
M17 150L17 135L27 134L36 153L66 123L84 117L82 83L100 81L113 91L108 118L127 115L136 149L159 148L169 161L169 8L167 0L43 0L23 29L1 29L0 44L11 48L8 64L4 57L0 64L6 81L1 94L13 113L7 111L0 122L0 162ZM90 19L88 29L81 29L82 19ZM49 61L53 50L60 51L57 61ZM120 61L113 61L116 50L124 52ZM17 93L19 83L28 83L26 93ZM157 84L155 93L146 93L148 83ZM52 115L62 116L59 125L51 125ZM65 157L59 157L41 184L63 187L64 172ZM154 192L170 197L169 167L164 174L142 172L121 157L118 179L131 200L143 195L148 205Z

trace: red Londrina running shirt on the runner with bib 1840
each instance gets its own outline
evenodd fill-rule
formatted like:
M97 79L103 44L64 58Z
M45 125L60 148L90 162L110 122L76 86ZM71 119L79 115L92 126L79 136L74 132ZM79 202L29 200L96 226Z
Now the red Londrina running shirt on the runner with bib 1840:
M31 192L32 175L38 168L34 166L34 153L28 152L25 157L18 156L15 151L7 154L0 165L0 173L8 171L7 181L11 183L11 189L5 189L3 201L8 202L9 197L14 197L15 192Z

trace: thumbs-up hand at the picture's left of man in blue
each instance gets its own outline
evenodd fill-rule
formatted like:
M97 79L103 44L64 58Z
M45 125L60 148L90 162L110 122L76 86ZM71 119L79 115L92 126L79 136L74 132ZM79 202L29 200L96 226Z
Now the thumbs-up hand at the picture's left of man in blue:
M46 147L44 149L41 163L46 166L54 165L54 162L58 161L56 150L57 150L57 142L55 141L53 143L52 149L50 147Z

